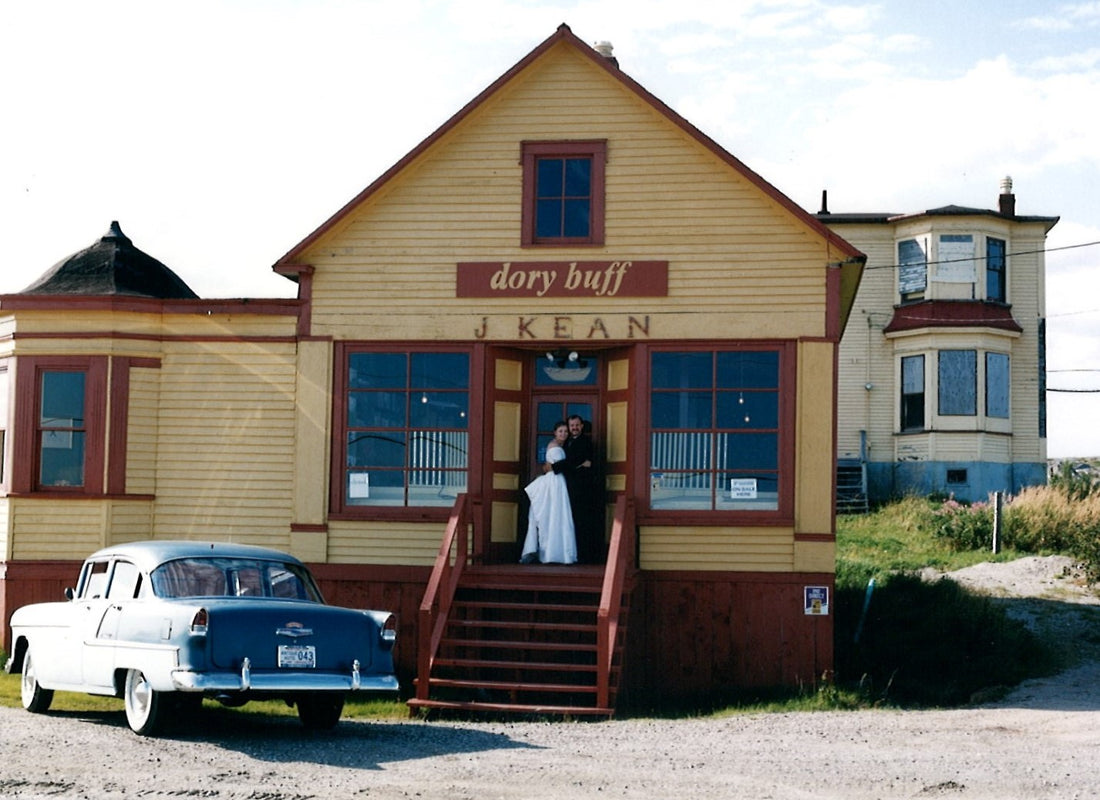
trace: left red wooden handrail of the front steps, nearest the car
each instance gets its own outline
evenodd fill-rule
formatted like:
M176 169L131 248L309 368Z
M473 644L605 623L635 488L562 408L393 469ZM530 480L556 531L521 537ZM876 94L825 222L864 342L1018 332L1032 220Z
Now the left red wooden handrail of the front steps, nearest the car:
M439 643L447 628L447 617L451 613L454 591L466 566L470 552L470 522L472 501L465 494L460 494L451 507L451 517L447 522L447 530L436 556L436 563L428 579L428 587L420 601L418 618L417 647L417 687L418 700L428 699L431 666L439 651Z

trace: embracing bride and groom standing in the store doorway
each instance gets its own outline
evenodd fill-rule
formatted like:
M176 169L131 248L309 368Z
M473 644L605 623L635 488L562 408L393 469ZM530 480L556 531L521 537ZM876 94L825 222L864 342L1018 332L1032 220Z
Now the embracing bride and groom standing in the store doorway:
M573 415L554 425L542 474L531 481L522 563L594 563L603 539L597 503L595 448Z

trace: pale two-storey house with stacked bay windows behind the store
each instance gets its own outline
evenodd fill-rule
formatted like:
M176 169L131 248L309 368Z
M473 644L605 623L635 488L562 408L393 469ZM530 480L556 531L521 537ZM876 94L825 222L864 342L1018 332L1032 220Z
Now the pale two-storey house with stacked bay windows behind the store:
M858 507L861 471L871 502L1045 483L1044 251L1058 218L1018 215L1005 178L996 209L817 219L868 256L840 343L842 511Z

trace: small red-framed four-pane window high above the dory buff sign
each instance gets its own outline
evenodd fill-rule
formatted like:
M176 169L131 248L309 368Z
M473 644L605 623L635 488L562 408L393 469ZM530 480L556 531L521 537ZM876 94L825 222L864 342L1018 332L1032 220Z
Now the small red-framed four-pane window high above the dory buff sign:
M524 142L520 243L604 243L606 141Z

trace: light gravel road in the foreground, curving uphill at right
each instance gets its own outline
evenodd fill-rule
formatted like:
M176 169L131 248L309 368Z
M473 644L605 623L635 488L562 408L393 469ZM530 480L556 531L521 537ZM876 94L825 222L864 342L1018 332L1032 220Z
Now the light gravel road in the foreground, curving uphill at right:
M200 714L167 738L121 710L0 709L0 798L1100 798L1100 601L1064 560L952 576L1007 598L1081 661L952 711L745 714L578 723ZM930 576L935 578L935 576Z

